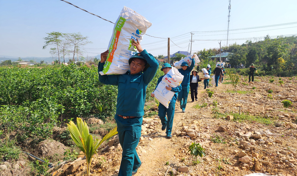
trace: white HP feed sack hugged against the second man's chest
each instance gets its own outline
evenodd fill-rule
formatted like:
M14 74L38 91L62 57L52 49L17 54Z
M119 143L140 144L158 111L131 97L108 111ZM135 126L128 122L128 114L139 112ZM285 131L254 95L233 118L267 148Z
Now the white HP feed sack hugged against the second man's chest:
M165 87L178 87L183 81L184 76L179 73L179 71L172 67L170 71L162 78L162 81L159 82L157 88L154 90L155 98L166 108L168 108L169 103L175 94L171 90L167 90Z

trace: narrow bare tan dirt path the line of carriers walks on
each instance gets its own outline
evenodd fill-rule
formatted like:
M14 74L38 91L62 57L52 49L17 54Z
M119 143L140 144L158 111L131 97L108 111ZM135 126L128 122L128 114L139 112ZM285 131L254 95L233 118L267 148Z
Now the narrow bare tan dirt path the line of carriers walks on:
M191 102L191 95L188 96L188 103L186 107L186 113L182 113L179 108L179 102L176 102L175 114L173 119L173 129L174 133L177 129L176 124L182 119L189 116L189 113L192 111L192 107L201 100L202 92L205 90L202 87L203 84L200 83L200 87L198 87L198 101ZM161 130L159 130L161 131ZM172 139L167 139L165 131L161 131L161 137L154 138L154 140L143 148L144 150L148 149L146 153L140 153L140 160L142 161L142 165L138 170L136 176L146 176L146 175L158 175L159 172L168 168L168 166L164 166L168 161L170 164L178 163L178 159L175 157L175 151L177 145L175 145L176 137Z

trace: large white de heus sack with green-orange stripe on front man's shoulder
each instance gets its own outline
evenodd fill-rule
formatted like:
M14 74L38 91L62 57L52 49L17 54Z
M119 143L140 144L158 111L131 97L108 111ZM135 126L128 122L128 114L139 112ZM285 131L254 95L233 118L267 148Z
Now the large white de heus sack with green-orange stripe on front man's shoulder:
M125 7L113 27L108 44L108 56L101 75L125 74L129 69L129 58L137 53L132 39L142 40L151 23L132 9Z

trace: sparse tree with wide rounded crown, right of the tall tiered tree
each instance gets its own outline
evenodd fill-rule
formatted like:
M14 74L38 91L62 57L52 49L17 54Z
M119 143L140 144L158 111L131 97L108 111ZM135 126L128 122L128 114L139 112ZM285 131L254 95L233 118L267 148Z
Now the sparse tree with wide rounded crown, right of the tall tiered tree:
M72 62L74 62L74 56L77 55L77 61L79 58L79 55L82 55L83 51L81 50L81 47L83 47L86 44L92 43L91 41L88 41L88 37L84 37L79 33L65 33L64 37L66 41L70 44L70 47L72 49L69 51L73 54Z

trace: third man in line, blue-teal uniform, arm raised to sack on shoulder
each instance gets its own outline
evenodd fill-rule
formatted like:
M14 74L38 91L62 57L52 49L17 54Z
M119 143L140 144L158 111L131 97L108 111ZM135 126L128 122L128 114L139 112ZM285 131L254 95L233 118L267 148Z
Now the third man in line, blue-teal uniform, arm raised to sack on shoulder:
M181 82L181 91L178 92L178 100L180 101L182 112L185 113L189 90L190 90L190 73L194 68L195 55L192 56L192 63L189 66L187 62L181 63L181 68L178 69L179 73L181 73L184 76L183 81Z

